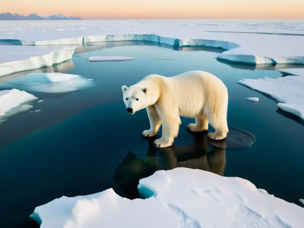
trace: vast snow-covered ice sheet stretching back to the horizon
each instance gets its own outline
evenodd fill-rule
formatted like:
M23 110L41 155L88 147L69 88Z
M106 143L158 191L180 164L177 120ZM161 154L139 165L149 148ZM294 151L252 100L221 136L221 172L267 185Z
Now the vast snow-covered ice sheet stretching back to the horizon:
M303 64L303 36L300 22L100 20L0 25L0 39L20 45L154 41L174 47L223 48L227 51L218 59L249 64Z

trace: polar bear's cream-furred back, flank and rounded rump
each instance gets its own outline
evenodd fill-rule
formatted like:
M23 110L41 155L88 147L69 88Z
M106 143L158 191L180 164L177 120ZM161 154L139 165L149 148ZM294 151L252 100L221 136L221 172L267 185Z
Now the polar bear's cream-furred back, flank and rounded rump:
M208 72L188 71L169 77L166 81L179 104L181 116L197 116L210 104L215 105L217 110L228 105L228 91L225 84ZM220 111L223 115L226 112L226 109Z

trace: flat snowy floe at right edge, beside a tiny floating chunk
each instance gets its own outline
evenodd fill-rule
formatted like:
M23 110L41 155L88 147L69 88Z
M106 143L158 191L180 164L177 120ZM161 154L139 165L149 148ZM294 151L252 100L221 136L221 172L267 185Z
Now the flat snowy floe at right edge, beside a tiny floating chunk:
M280 109L304 119L304 76L244 79L238 83L270 95Z

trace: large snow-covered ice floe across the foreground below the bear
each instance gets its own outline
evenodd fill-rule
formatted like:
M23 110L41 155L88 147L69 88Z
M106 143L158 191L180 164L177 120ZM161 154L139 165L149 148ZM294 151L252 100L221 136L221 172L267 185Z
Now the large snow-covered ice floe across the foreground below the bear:
M140 180L148 199L126 199L108 189L61 197L36 207L41 228L221 227L298 228L304 208L257 189L250 181L208 171L175 168Z

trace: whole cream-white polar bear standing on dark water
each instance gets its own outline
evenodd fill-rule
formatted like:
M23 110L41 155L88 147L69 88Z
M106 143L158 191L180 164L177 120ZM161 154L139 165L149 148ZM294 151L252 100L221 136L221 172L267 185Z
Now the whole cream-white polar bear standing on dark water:
M143 136L155 136L162 125L162 136L154 141L157 147L169 147L178 136L180 116L195 118L187 127L192 132L215 129L208 137L224 139L228 133L228 91L225 84L205 71L188 71L173 77L150 74L135 85L122 86L127 112L133 115L146 108L150 130Z

